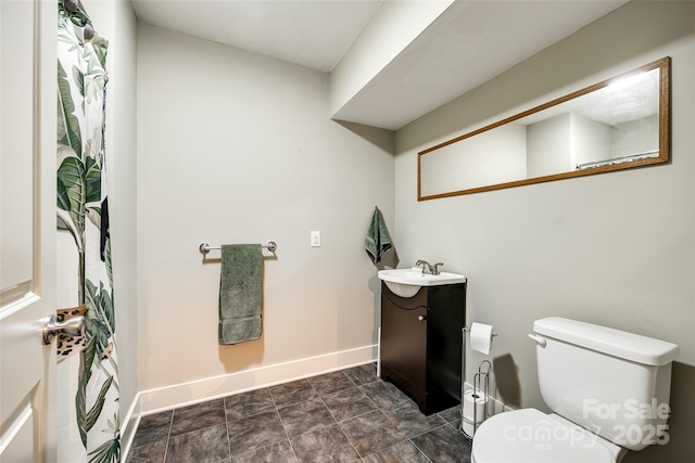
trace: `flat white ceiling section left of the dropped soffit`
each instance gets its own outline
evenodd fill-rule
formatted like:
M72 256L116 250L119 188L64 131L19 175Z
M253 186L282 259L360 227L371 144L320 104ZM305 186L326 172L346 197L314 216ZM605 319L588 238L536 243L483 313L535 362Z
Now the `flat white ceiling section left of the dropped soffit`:
M382 0L131 0L164 29L330 73Z

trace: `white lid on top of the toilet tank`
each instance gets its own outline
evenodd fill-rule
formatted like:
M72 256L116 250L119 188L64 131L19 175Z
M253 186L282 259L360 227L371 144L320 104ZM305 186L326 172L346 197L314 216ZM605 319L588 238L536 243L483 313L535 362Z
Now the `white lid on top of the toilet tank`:
M587 349L646 365L665 365L678 357L678 345L607 326L548 317L533 322L533 331Z

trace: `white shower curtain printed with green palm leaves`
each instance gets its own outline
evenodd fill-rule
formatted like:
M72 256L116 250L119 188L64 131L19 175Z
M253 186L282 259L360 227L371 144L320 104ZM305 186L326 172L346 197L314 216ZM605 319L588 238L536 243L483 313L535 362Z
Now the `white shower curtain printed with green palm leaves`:
M58 228L78 253L86 343L75 397L89 462L121 461L118 369L106 200L108 42L78 0L58 0Z

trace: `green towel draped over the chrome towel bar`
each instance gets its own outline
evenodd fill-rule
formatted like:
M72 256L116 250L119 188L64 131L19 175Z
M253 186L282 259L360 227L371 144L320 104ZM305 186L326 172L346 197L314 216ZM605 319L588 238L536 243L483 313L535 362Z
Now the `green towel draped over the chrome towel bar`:
M220 345L243 343L263 332L263 255L260 244L222 246Z

